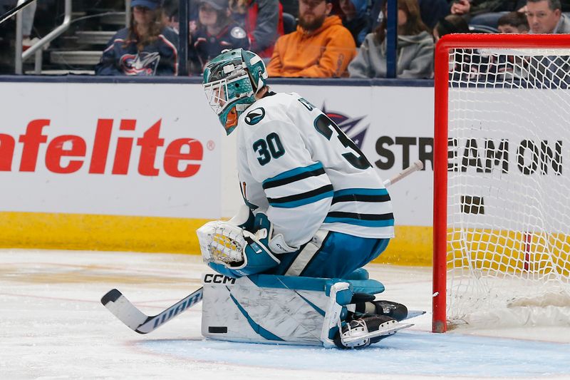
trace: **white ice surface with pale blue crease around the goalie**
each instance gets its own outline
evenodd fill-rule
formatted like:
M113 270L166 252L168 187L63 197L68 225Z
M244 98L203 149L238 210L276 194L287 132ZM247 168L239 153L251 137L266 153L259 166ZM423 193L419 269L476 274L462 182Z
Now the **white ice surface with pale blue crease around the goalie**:
M0 250L0 379L570 379L570 328L430 333L430 268L370 265L385 299L428 313L368 349L205 340L201 305L147 335L99 302L156 314L197 289L197 256Z

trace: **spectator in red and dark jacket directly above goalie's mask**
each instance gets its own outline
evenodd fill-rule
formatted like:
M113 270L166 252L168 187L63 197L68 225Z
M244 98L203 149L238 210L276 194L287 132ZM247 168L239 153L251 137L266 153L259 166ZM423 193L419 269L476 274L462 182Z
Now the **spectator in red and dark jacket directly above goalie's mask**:
M271 58L275 41L284 34L279 0L229 0L229 9L247 33L249 50L261 58Z

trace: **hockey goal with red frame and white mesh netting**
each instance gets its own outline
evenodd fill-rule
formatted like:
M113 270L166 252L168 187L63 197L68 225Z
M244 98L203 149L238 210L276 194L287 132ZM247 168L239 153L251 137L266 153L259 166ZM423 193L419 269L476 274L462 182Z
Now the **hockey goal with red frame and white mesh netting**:
M570 36L445 36L435 68L433 331L570 325Z

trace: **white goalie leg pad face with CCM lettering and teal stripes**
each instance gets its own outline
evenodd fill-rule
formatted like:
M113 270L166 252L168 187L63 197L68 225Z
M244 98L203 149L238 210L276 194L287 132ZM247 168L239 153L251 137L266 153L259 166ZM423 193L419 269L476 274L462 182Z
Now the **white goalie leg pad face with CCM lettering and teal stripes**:
M292 279L297 280L304 282ZM307 277L309 286L287 281L291 278L269 274L239 279L205 274L202 335L232 342L321 345L327 279Z

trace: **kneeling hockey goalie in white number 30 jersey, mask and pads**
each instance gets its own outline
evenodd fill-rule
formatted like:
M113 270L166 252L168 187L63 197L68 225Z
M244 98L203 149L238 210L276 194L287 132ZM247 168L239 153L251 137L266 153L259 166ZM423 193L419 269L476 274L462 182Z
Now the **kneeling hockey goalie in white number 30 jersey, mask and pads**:
M209 105L237 133L244 206L197 231L219 273L204 276L202 334L344 349L409 327L408 309L375 300L383 284L362 268L394 234L382 180L321 110L266 79L261 58L242 49L204 70Z

